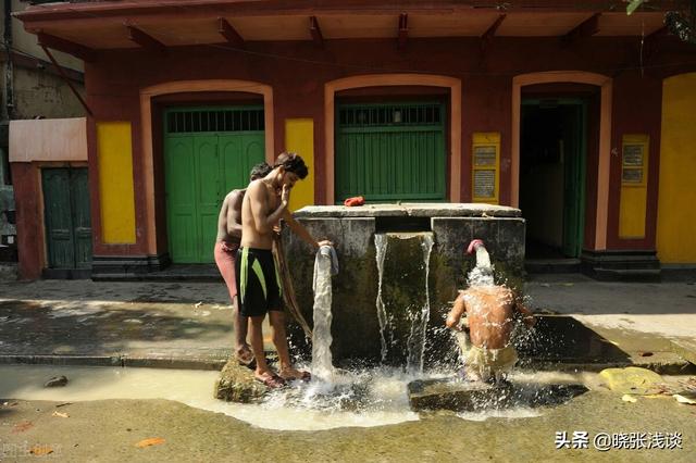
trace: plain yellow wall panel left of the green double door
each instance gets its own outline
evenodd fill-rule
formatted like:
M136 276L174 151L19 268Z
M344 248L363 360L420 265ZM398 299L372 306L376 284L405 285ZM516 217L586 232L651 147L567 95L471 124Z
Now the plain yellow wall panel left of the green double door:
M97 123L101 230L104 243L135 243L130 123Z

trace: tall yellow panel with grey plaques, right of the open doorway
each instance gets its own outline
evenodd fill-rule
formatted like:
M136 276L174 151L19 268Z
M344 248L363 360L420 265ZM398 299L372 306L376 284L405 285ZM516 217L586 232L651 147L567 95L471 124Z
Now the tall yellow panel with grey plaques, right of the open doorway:
M620 238L645 238L649 141L647 135L623 136L619 205Z

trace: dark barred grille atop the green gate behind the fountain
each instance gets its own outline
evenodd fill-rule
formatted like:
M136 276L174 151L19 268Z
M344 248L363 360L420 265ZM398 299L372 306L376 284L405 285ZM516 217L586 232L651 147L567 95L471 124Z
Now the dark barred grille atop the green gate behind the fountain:
M344 105L338 110L338 125L341 127L440 125L442 117L439 103Z

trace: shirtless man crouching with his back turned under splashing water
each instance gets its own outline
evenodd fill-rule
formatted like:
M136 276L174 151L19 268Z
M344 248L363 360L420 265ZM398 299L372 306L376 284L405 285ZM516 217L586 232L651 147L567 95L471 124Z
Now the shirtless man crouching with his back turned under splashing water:
M469 253L483 247L483 241L472 241ZM515 297L510 288L499 285L476 285L460 291L445 324L448 328L463 330L460 321L467 314L471 348L464 355L464 372L471 380L499 380L518 361L510 343L514 318L522 316L529 327L536 321L532 312Z

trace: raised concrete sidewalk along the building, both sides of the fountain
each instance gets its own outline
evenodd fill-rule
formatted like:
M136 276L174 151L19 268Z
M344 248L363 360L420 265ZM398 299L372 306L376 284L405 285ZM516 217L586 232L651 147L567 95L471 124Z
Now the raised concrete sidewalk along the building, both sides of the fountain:
M526 293L536 312L580 321L637 364L684 363L672 342L696 339L695 281L537 275ZM217 283L5 280L0 363L220 368L232 354L232 320Z

